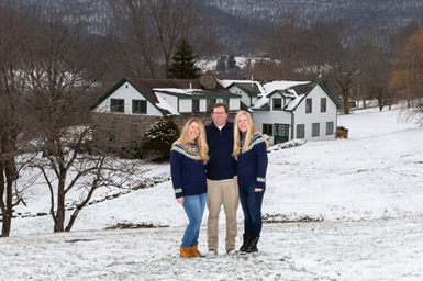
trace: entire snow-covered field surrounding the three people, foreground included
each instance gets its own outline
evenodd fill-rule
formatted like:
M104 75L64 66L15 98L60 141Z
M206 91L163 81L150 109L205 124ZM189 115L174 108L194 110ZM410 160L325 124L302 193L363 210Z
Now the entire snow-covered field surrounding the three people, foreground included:
M180 259L187 218L169 166L147 165L140 177L159 183L87 206L70 233L52 234L51 216L14 218L0 280L422 280L423 128L402 115L355 111L338 116L348 139L272 147L257 255ZM46 191L16 211L47 212ZM237 246L241 207L238 218ZM105 231L122 223L165 227Z

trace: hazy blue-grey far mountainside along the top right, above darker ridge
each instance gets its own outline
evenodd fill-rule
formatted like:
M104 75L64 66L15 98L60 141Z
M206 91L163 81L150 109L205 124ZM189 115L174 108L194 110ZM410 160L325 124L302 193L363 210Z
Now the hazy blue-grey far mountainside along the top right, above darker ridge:
M361 29L399 29L423 22L421 0L209 0L209 5L251 20L277 22L283 14L297 14L312 24L316 21L347 21Z

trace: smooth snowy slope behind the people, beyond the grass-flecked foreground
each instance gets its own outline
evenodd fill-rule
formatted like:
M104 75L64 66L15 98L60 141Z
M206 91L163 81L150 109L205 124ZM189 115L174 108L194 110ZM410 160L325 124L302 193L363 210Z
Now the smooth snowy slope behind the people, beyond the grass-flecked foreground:
M423 214L423 131L405 123L401 114L398 109L355 111L338 116L338 125L349 128L348 139L289 149L271 147L263 207L267 220L344 221ZM122 191L99 191L92 199L99 203L84 209L73 229L104 229L129 223L183 225L186 217L174 199L169 165L144 164L142 170L134 180L151 182L148 179L154 178L160 183L137 191L126 189L105 201L101 199ZM20 205L16 212L48 213L47 188L38 186L33 193L27 206ZM48 215L15 218L11 235L48 233L52 228Z

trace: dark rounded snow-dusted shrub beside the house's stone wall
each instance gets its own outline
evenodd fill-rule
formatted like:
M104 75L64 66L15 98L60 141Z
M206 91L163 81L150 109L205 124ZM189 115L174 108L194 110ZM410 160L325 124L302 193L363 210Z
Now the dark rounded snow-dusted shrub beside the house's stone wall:
M179 137L179 128L170 119L153 123L141 140L141 151L152 161L170 158L171 144Z

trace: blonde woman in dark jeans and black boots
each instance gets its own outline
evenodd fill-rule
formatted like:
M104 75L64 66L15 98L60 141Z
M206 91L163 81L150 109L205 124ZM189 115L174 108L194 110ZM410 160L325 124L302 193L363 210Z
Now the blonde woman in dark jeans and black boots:
M234 149L237 160L240 201L244 211L244 243L242 254L258 251L261 233L261 203L266 189L268 144L246 111L235 116Z

